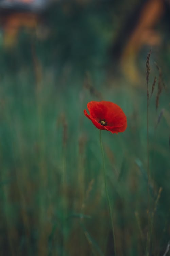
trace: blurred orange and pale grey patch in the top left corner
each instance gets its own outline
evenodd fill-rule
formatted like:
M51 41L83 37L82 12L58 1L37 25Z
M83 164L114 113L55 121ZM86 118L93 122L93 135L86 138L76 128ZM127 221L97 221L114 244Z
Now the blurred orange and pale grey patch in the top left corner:
M36 32L41 20L39 10L43 8L44 3L36 0L6 0L1 4L0 26L5 48L16 45L21 29L29 33ZM35 9L35 6L38 7Z

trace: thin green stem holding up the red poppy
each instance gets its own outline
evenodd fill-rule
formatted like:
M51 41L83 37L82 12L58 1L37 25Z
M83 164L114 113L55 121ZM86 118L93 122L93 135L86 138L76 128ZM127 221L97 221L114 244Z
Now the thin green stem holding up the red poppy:
M102 144L102 139L101 139L101 130L100 130L100 133L99 133L99 140L100 140L100 146L101 146L102 157L103 157L103 174L104 174L105 192L106 192L106 197L107 197L107 202L108 202L108 207L109 207L109 214L110 214L110 219L111 219L111 224L112 224L113 244L114 244L114 252L115 252L115 256L116 256L116 244L115 244L115 231L114 231L114 225L113 225L113 214L112 214L111 202L110 202L109 195L108 195L108 190L107 190L106 166L105 166L103 144Z

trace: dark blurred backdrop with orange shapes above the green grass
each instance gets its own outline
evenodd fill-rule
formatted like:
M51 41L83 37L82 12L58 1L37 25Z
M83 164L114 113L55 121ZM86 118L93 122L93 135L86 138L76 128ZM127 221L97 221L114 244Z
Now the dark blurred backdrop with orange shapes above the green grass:
M3 0L1 47L15 47L24 32L34 36L34 42L43 40L46 49L48 41L48 58L55 56L60 65L78 65L85 71L106 68L111 76L121 72L137 83L142 50L168 47L169 10L163 0Z

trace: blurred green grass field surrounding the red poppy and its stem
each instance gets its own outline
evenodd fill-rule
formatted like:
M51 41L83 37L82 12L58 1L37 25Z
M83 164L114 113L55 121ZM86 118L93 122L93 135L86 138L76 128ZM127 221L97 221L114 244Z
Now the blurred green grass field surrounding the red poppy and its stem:
M108 34L104 33L103 51L107 40ZM74 61L72 57L72 62L62 62L58 53L55 56L59 56L59 61L54 65L52 44L52 39L42 43L23 32L15 50L1 49L1 255L114 255L99 130L83 113L89 101L99 101L100 97L121 106L128 119L124 133L102 131L117 255L145 255L148 231L145 62L150 48L139 55L140 77L134 86L126 77L109 76L107 66L93 66L96 62L91 62L88 52L89 69L87 63L81 65L83 61L79 67L79 59ZM157 111L157 84L149 104L153 256L163 256L170 240L168 56L165 52L158 56L153 49L150 58L150 91L154 76L157 79L159 76L154 61L160 59L167 87L160 95ZM97 59L97 63L105 63L105 57Z

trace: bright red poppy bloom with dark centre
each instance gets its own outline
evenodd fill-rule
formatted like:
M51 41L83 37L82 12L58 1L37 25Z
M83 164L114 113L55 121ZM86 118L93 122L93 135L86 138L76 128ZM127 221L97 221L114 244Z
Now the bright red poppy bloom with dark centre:
M90 101L87 104L90 114L84 110L93 124L100 130L112 133L123 132L127 128L127 118L123 110L110 101Z

